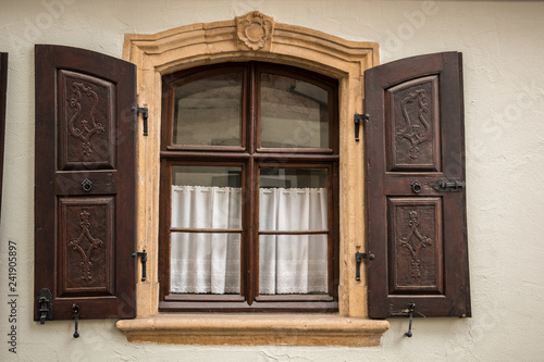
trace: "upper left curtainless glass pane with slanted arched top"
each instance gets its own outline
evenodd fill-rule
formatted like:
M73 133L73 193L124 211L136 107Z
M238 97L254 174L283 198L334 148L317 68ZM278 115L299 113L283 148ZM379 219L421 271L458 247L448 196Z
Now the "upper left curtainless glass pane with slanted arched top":
M174 143L240 146L242 83L232 73L176 87Z

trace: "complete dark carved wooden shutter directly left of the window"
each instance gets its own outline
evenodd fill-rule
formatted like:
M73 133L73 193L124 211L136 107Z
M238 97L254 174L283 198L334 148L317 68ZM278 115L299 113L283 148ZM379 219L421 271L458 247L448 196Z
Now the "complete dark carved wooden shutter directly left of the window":
M36 46L35 320L135 316L135 65Z

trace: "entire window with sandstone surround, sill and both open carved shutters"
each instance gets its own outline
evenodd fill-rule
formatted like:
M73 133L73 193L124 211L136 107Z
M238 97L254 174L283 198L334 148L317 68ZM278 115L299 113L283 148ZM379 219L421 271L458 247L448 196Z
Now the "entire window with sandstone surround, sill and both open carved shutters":
M373 67L376 43L274 25L267 18L254 12L238 24L127 36L124 58L136 65L82 49L36 47L36 134L44 137L36 142L35 320L72 319L77 303L81 317L137 313L135 320L116 323L129 341L360 347L380 345L388 328L386 321L370 321L368 315L408 316L413 309L425 316L470 315L460 54L421 55ZM240 36L244 24L261 26L262 32ZM233 59L255 63L225 63ZM297 65L338 79L337 85L304 70L257 62ZM213 67L199 68L202 64ZM295 87L283 86L285 79ZM162 85L170 95L165 101ZM323 90L326 112L319 96ZM138 126L137 155L132 137L136 91L137 102L150 115L149 137ZM282 107L270 112L264 98L274 98L263 97L265 91L283 95L277 96ZM221 101L207 104L210 95L222 96ZM285 121L289 99L313 104L310 129L319 137L286 141L277 137L282 127L268 125L272 118L296 124ZM362 113L362 100L370 116L362 141L356 141L354 114ZM217 126L220 130L187 137L195 130L191 124L202 123L201 113L207 112L214 118L225 116ZM92 127L81 114L97 116ZM177 114L182 117L176 121ZM162 141L161 121L169 129ZM91 134L83 134L83 128ZM321 219L326 222L302 227L299 222L261 220L261 208L282 209L274 192L300 187L326 187L326 217ZM183 199L174 188L187 189L189 196L195 189L208 196L219 191L224 194L217 197L223 208L205 208L202 219L194 217L184 207L174 208L173 195ZM168 191L162 201L161 190ZM211 223L210 209L223 213L221 223ZM177 247L197 239L234 245L226 250L239 257L221 257L234 277L206 282L203 289L189 286L193 273L171 283L170 273L164 273L170 270L162 265L171 263L172 235L189 240ZM333 285L326 294L324 287L302 292L267 284L269 260L261 261L255 251L267 249L269 239L325 235L326 280ZM136 236L136 250L147 250L147 267L145 257L141 264L126 262ZM86 242L83 249L78 240ZM357 251L374 255L360 267L360 279L355 277L356 255L361 255ZM198 260L207 263L207 258ZM277 264L277 259L271 260ZM207 272L206 278L211 280L211 275ZM302 280L299 275L294 279ZM42 310L47 300L53 302L52 311ZM159 313L325 311L335 303L338 313L320 315Z

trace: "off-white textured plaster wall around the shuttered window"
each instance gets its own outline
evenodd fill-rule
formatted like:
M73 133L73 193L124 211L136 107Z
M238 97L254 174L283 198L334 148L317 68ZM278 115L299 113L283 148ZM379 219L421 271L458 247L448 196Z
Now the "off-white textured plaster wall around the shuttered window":
M473 317L391 320L378 348L134 345L114 321L32 321L34 43L121 58L125 33L153 34L259 10L277 22L381 45L381 62L445 50L465 58ZM0 232L1 361L543 361L543 2L356 0L2 0L10 53ZM36 135L39 137L39 135ZM8 240L18 248L17 353L8 351Z

